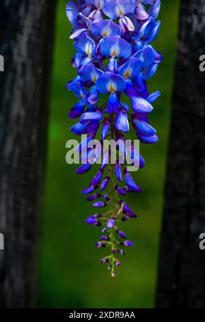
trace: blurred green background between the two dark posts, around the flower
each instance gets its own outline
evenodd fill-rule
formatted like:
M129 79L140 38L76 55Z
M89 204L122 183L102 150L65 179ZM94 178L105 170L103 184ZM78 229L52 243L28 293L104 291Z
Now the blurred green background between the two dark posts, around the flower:
M99 262L105 250L94 247L100 230L85 224L93 209L80 190L87 187L92 173L76 175L77 166L70 166L65 160L66 141L74 138L69 131L74 122L68 119L67 114L77 102L74 95L65 89L68 80L76 74L70 64L74 49L69 40L66 2L58 1L56 14L38 306L152 308L156 291L180 1L162 1L161 32L154 48L163 53L164 60L149 81L150 92L162 92L150 116L152 125L158 131L159 143L141 144L140 151L146 166L135 173L135 179L143 188L143 193L126 197L139 218L122 224L122 230L133 240L135 247L126 250L126 256L120 258L121 267L117 269L115 279Z

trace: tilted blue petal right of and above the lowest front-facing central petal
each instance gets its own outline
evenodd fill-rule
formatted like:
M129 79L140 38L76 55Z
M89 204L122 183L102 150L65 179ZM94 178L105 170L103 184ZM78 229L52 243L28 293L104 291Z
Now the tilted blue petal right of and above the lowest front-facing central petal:
M118 73L126 78L136 77L142 69L142 62L137 58L131 57L126 63L124 63L118 69Z

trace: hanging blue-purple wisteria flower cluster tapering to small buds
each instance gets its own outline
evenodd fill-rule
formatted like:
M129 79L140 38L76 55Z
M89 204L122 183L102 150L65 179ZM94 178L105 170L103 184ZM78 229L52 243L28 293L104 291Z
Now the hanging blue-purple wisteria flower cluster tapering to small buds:
M125 141L132 124L142 143L158 140L148 117L160 92L149 94L146 81L162 60L161 54L150 45L159 34L161 22L156 18L160 5L160 0L68 2L66 14L73 27L70 38L77 51L72 66L78 75L66 85L79 99L69 112L71 119L79 119L71 128L74 134L87 134L89 142L100 129L103 145L107 138ZM130 99L131 106L124 103L123 97ZM82 143L78 149L83 158ZM134 147L131 151L137 153ZM93 158L97 159L96 154ZM135 184L126 163L120 164L117 160L109 164L110 154L109 149L89 187L82 193L88 195L87 201L92 201L92 206L98 209L99 213L86 222L101 226L102 236L95 245L110 249L101 262L108 263L115 277L115 268L120 266L118 255L124 255L124 247L133 246L118 225L137 217L122 198L127 193L140 193L141 188ZM137 156L141 168L144 160L139 153ZM88 161L81 164L77 173L86 173L92 165L93 162ZM105 213L99 211L104 208Z

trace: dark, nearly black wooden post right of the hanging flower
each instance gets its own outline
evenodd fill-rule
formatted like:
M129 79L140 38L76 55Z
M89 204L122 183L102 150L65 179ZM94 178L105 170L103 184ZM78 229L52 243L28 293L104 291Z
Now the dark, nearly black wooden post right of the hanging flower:
M182 0L169 142L159 308L205 307L205 0ZM165 58L166 59L166 58Z

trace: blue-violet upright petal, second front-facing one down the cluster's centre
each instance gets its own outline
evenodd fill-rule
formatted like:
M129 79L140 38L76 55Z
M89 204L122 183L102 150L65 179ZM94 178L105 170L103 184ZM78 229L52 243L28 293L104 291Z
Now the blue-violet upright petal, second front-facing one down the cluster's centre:
M120 27L116 23L113 23L111 19L93 23L90 29L94 36L110 37L121 36L122 34Z

